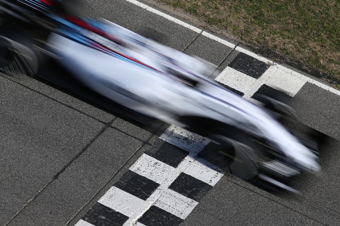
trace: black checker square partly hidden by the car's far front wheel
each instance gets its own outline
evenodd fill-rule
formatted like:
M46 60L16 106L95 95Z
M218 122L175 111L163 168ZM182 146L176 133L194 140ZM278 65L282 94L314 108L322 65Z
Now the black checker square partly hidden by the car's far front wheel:
M271 98L276 99L278 101L281 101L283 103L287 103L293 98L293 97L283 93L282 91L279 91L279 90L276 90L276 89L274 89L270 86L267 86L266 84L263 84L260 87L260 89L258 89L254 93L252 98L263 103L264 99L261 95L271 97Z

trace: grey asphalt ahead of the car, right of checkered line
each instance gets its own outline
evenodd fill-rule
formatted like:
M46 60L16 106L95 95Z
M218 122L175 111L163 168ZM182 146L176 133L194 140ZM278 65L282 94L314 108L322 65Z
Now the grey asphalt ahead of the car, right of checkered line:
M331 136L321 149L322 175L295 182L302 195L269 193L226 175L181 225L338 225L340 97L306 83L292 104L302 123Z

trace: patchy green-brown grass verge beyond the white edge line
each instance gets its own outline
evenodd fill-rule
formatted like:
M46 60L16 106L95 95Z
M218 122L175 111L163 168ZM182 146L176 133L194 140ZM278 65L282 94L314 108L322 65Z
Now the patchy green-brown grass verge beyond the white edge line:
M339 0L156 0L275 61L340 84Z

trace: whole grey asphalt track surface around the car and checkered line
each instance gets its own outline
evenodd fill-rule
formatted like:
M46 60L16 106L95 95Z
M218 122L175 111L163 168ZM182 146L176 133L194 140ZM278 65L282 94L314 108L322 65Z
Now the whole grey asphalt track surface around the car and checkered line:
M126 1L84 3L90 16L198 55L221 71L234 54ZM0 86L0 225L76 224L161 135L42 79L2 74ZM181 225L338 225L340 97L307 82L292 102L303 124L331 137L321 150L323 174L299 181L303 195L269 193L226 175Z

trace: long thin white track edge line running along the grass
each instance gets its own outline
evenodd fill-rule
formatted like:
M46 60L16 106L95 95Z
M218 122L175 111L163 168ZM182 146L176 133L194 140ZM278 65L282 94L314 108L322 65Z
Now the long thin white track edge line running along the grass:
M273 61L271 61L271 60L269 60L269 59L266 59L266 58L264 58L263 56L260 56L260 55L254 53L254 52L251 52L251 51L249 51L249 50L247 50L247 49L245 49L245 48L236 46L236 45L234 45L234 44L232 44L232 43L230 43L230 42L228 42L228 41L226 41L226 40L224 40L224 39L221 39L221 38L218 38L218 37L216 37L216 36L214 36L214 35L211 35L211 34L205 32L205 31L203 31L203 30L201 30L201 29L198 29L198 28L195 27L195 26L192 26L192 25L190 25L190 24L188 24L188 23L185 23L185 22L183 22L183 21L181 21L181 20L179 20L179 19L176 19L176 18L173 17L173 16L169 16L169 15L163 13L163 12L160 12L159 10L156 10L156 9L154 9L154 8L148 6L148 5L142 4L142 3L138 2L138 1L135 1L135 0L125 0L125 1L127 1L127 2L129 2L129 3L132 3L132 4L136 5L136 6L139 6L139 7L143 8L143 9L145 9L145 10L148 10L148 11L150 11L150 12L152 12L152 13L155 13L155 14L157 14L157 15L159 15L159 16L165 18L165 19L168 19L168 20L170 20L170 21L173 21L173 22L175 22L175 23L177 23L177 24L179 24L179 25L181 25L181 26L183 26L183 27L186 27L187 29L189 29L189 30L191 30L191 31L194 31L194 32L196 32L196 33L199 33L199 34L201 34L201 35L203 35L203 36L205 36L205 37L208 37L208 38L210 38L210 39L212 39L212 40L215 40L215 41L217 41L217 42L219 42L219 43L222 43L222 44L224 44L224 45L226 45L226 46L228 46L228 47L234 48L234 49L237 50L237 51L246 53L247 55L250 55L250 56L252 56L253 58L255 58L255 59L259 60L259 61L262 61L262 62L264 62L264 63L266 63L266 64L274 64ZM278 64L277 64L277 65L278 65ZM281 67L283 67L283 66L281 66ZM287 68L286 68L286 69L287 69ZM290 69L288 69L288 70L290 70ZM331 93L334 93L334 94L340 96L340 91L339 91L339 90L335 90L335 89L333 89L333 88L327 86L327 85L324 84L324 83L321 83L321 82L319 82L319 81L317 81L317 80L315 80L315 79L309 78L309 77L307 77L307 76L305 76L305 75L302 75L302 74L300 74L300 73L298 73L298 72L295 72L295 73L299 74L299 76L300 76L301 78L305 79L306 81L308 81L308 82L310 82L310 83L312 83L312 84L315 84L315 86L318 86L318 87L320 87L320 88L322 88L322 89L324 89L324 90L327 90L327 91L329 91L329 92L331 92ZM287 89L287 88L288 88L288 87L285 87L284 89ZM240 91L240 90L239 90L239 91ZM249 98L248 98L248 99L249 99Z

